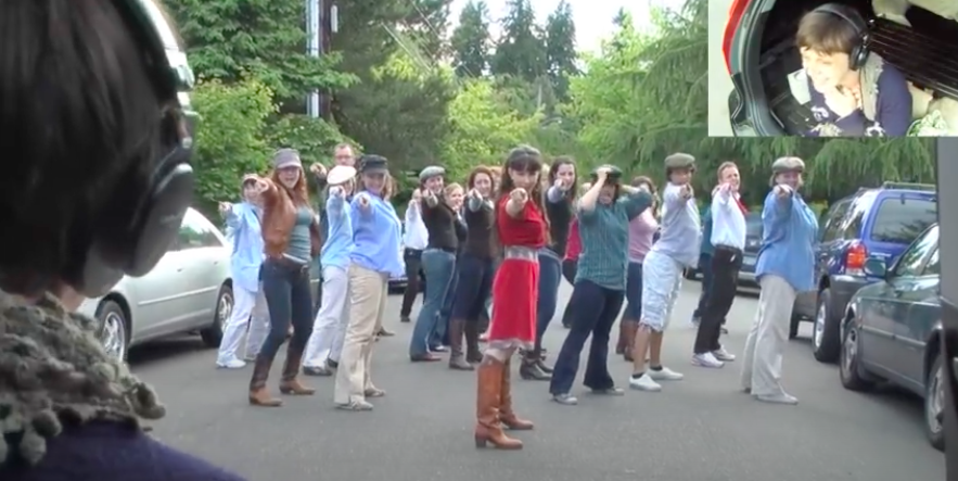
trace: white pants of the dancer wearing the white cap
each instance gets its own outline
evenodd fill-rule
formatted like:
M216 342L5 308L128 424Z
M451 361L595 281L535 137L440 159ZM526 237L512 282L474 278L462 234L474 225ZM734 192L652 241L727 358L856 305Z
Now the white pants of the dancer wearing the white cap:
M339 360L349 324L349 274L342 267L322 268L322 302L312 321L312 334L303 357L305 367L323 367Z

